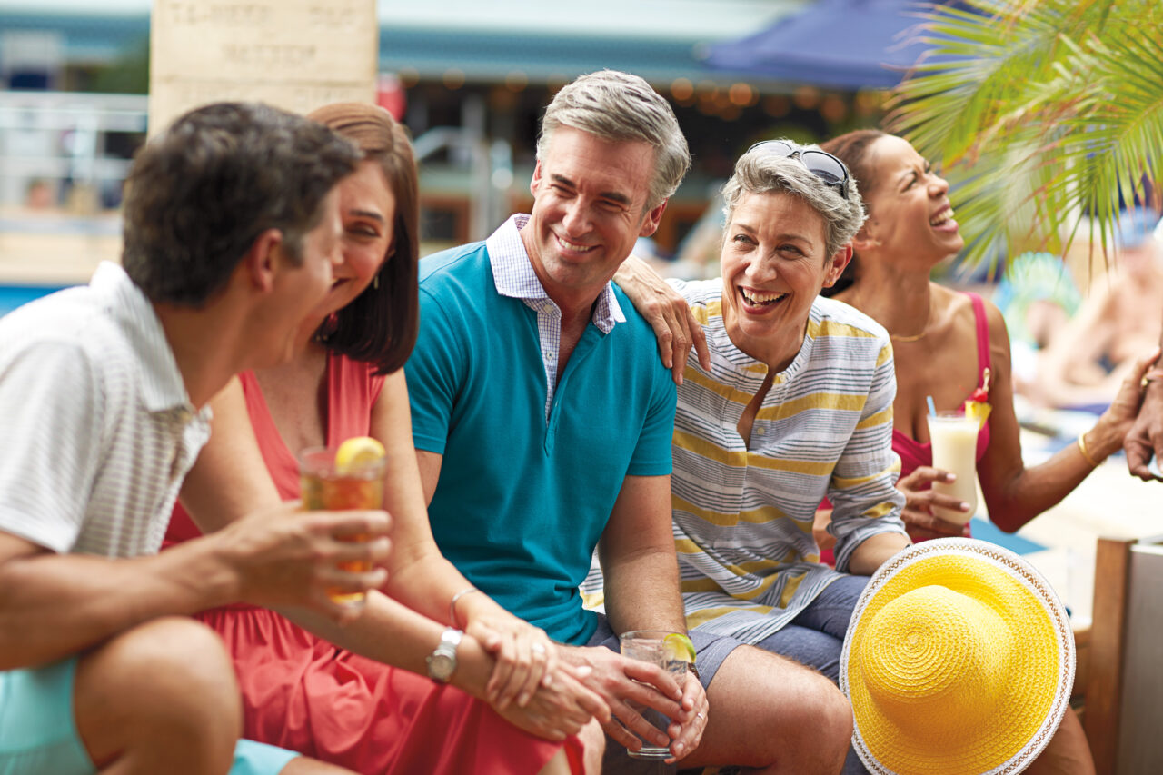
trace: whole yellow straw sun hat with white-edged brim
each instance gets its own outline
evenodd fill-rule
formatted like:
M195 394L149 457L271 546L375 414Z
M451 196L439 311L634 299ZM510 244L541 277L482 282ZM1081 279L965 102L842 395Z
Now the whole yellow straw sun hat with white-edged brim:
M852 747L875 775L1020 773L1057 732L1073 680L1073 633L1049 583L963 538L880 567L840 662Z

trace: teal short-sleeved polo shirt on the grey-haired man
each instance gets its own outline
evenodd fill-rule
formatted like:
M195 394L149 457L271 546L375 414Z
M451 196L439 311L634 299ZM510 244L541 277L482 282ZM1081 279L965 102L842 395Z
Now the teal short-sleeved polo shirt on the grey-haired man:
M573 645L597 627L578 584L622 481L671 471L675 384L652 330L615 293L626 322L607 334L590 322L548 420L536 312L498 293L484 242L420 262L420 335L405 367L415 446L443 455L428 507L441 552Z

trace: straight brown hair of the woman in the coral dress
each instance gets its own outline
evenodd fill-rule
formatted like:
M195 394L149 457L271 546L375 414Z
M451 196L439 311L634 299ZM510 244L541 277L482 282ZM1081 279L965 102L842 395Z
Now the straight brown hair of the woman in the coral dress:
M365 159L378 162L395 195L392 246L377 282L336 312L315 336L330 350L373 363L376 374L391 374L408 360L420 327L420 208L412 141L407 129L374 105L336 102L307 118L354 141Z

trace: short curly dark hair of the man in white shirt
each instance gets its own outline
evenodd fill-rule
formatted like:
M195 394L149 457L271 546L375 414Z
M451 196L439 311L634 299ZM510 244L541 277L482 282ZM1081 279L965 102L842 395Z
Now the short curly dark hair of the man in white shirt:
M287 254L301 261L323 198L359 158L326 127L266 105L193 109L134 161L126 272L151 301L199 307L267 229L283 232Z

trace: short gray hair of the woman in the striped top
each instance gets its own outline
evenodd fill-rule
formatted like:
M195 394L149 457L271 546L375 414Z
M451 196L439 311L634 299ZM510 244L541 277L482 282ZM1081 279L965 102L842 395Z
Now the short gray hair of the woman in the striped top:
M799 148L819 150L816 145ZM723 214L726 222L730 223L735 208L747 194L782 192L799 197L823 219L825 242L830 257L848 244L864 223L864 206L851 175L847 185L848 199L844 199L839 191L809 172L798 158L772 154L758 144L735 162L735 172L723 185Z

